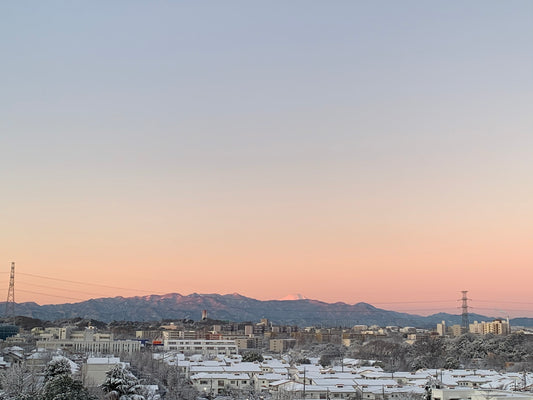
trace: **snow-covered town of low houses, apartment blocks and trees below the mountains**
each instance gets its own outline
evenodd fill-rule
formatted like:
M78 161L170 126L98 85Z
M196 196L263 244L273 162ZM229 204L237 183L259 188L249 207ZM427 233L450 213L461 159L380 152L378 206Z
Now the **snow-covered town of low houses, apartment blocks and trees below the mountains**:
M58 365L85 393L72 399L533 399L533 330L502 319L468 331L237 323L207 311L197 321L12 322L0 326L0 399L48 398Z

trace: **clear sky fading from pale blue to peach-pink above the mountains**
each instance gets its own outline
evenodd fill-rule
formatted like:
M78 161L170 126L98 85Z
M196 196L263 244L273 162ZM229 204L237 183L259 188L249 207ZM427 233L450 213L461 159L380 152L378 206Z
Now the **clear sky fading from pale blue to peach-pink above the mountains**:
M533 317L532 39L529 0L2 2L5 293Z

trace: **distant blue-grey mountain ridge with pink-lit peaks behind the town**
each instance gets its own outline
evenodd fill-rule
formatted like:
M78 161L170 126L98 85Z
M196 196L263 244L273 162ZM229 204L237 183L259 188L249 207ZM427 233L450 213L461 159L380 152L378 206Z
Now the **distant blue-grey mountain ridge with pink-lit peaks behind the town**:
M5 307L5 303L0 303ZM38 305L33 302L15 305L15 314L58 320L66 318L91 318L99 321L160 321L162 319L199 320L202 310L209 318L235 322L256 322L267 318L274 324L298 326L353 326L358 324L379 326L435 327L446 321L461 323L460 315L439 313L427 317L388 311L368 303L325 303L311 299L256 300L233 294L179 293L136 297L111 297L91 299L79 303ZM491 317L470 314L473 320L491 320ZM519 318L520 325L533 326L533 318ZM513 323L513 320L511 320Z

